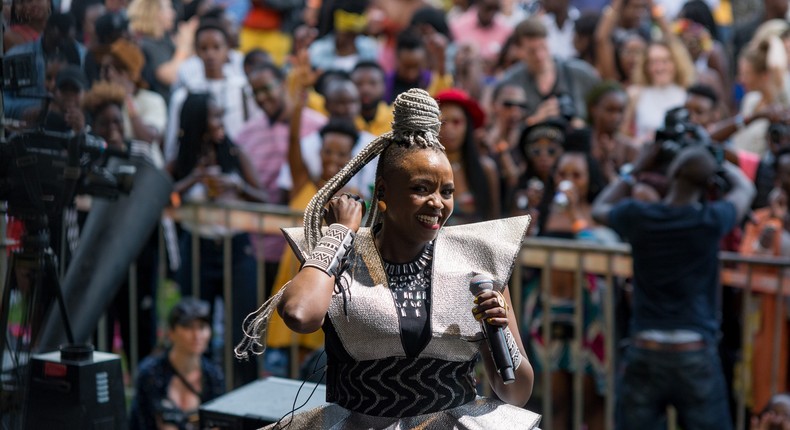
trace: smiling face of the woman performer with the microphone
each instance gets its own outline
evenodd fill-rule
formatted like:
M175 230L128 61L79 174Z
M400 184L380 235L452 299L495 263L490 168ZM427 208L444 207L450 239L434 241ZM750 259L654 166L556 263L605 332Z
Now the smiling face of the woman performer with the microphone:
M377 194L387 204L382 241L421 247L435 239L453 213L454 191L446 155L433 149L406 152L376 184Z

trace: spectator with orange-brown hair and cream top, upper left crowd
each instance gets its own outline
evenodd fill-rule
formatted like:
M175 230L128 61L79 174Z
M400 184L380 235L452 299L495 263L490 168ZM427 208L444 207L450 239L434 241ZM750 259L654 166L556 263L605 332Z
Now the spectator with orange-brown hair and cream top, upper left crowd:
M134 43L118 39L100 58L101 79L123 88L123 135L126 139L160 145L167 121L167 106L161 95L142 88L143 52Z

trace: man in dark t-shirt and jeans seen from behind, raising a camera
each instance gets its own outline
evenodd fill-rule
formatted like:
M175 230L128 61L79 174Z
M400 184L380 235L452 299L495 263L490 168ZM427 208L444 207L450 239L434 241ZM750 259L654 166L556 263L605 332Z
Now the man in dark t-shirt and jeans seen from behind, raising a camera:
M672 160L663 200L629 196L643 171L655 171L659 145L645 148L630 175L610 184L593 204L593 218L609 225L632 248L634 292L631 346L625 354L617 402L621 429L658 429L666 407L685 430L732 428L717 354L719 241L743 219L754 186L727 162L729 191L706 201L719 168L704 146Z

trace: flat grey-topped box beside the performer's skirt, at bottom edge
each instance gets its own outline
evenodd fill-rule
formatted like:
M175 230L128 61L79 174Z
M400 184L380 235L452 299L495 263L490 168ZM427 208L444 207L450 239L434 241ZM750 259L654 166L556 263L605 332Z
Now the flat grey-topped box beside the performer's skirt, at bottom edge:
M294 402L298 407L305 401L296 413L325 405L326 386L276 377L260 379L201 405L200 428L259 429L290 413Z

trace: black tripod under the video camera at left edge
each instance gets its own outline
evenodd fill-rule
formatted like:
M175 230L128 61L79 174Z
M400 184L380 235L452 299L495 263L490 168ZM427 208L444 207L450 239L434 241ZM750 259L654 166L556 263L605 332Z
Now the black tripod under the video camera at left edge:
M21 248L11 254L0 302L0 424L24 428L29 380L28 361L53 302L60 311L69 344L74 343L57 258L45 214L17 214L24 223Z

